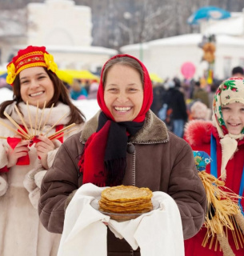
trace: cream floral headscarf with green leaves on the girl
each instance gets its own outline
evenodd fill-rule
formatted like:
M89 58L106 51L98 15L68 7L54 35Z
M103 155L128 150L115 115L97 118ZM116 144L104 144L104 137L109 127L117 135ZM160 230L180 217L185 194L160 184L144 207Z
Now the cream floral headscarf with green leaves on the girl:
M238 148L238 139L244 137L244 127L240 134L230 134L226 128L222 116L222 106L230 103L240 102L244 104L244 78L234 77L228 78L218 87L214 96L213 102L213 122L218 130L218 135L221 138L222 146L222 180L226 180L226 165L230 158L234 155Z

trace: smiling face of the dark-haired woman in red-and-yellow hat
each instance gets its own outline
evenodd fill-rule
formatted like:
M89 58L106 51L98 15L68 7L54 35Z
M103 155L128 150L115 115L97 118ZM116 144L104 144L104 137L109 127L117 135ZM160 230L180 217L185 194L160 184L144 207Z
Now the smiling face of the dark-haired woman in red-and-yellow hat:
M34 66L19 73L20 94L24 102L42 108L54 96L54 84L42 66Z

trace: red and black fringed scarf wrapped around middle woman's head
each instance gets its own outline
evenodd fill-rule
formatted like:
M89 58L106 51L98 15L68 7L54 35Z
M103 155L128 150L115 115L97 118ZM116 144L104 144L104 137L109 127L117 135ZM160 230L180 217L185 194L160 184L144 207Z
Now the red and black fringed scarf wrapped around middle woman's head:
M120 57L134 58L128 54L120 54L110 58L110 60ZM139 62L144 71L142 109L132 122L114 121L113 115L104 102L102 75L106 62L102 68L97 96L98 105L102 110L102 114L99 117L98 130L88 138L78 163L80 171L83 173L83 184L91 182L96 186L116 186L122 183L126 169L128 139L126 135L128 133L134 135L142 128L146 113L153 101L153 90L148 71L142 62L137 58L134 59ZM116 178L117 176L118 178Z

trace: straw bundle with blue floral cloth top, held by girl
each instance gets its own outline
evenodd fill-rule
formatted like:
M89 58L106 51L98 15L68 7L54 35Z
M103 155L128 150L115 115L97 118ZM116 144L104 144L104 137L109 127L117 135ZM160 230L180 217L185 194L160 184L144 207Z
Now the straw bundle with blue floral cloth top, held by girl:
M228 234L234 238L238 250L244 246L244 217L238 205L240 197L225 186L225 182L206 173L210 156L203 151L194 151L194 160L198 175L206 190L207 211L204 227L206 235L202 246L209 246L215 251L222 250L225 256L234 256L228 242ZM228 232L229 230L229 232Z

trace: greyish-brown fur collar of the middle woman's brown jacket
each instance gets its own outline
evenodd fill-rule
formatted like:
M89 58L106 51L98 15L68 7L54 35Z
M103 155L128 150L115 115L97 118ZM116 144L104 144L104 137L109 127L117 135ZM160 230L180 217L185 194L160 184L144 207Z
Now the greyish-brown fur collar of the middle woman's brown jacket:
M98 128L98 117L101 110L94 115L88 122L86 122L80 141L85 143L91 134L96 132ZM146 119L144 126L138 131L132 138L130 142L134 144L154 144L163 143L169 141L169 134L164 122L162 122L156 115L149 110L146 114Z

